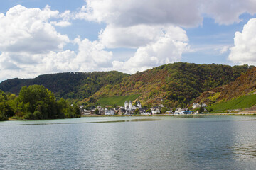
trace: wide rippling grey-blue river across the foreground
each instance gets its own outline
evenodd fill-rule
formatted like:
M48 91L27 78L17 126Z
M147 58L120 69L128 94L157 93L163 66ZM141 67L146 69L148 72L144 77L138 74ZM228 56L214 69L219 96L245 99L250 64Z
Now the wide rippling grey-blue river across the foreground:
M0 122L0 169L255 169L256 117Z

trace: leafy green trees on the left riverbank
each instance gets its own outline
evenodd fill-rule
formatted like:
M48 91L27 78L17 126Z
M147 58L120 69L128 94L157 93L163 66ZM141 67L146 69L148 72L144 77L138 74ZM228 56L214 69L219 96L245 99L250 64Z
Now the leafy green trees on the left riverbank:
M42 85L23 86L18 96L0 90L0 120L79 118L80 108L65 99L56 100Z

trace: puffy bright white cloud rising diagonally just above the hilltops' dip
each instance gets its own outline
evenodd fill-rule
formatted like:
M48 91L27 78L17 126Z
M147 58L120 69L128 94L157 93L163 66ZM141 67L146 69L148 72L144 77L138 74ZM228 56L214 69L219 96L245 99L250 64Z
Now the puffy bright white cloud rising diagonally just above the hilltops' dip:
M139 47L133 57L126 62L112 62L114 68L134 73L181 60L183 52L189 49L186 32L181 28L172 27L164 35L151 44Z

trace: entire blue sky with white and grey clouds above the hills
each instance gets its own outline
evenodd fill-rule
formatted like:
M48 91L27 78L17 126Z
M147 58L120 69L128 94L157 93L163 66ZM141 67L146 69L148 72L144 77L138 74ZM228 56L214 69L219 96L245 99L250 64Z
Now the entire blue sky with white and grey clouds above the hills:
M256 1L0 2L0 82L174 62L256 65Z

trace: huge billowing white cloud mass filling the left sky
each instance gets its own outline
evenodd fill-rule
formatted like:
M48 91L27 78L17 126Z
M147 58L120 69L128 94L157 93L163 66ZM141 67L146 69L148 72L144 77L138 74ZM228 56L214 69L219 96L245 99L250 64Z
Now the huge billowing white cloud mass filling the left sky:
M70 11L18 5L0 13L0 79L38 74L92 71L112 67L112 52L99 41L69 40L55 26L70 26ZM63 50L67 43L78 50Z

